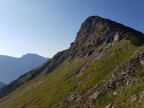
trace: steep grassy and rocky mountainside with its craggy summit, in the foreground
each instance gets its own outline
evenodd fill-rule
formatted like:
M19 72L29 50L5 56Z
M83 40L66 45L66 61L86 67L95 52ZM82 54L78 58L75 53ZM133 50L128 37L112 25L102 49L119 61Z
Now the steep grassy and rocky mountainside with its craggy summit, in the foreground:
M3 108L143 108L144 34L91 16L69 49L0 89Z

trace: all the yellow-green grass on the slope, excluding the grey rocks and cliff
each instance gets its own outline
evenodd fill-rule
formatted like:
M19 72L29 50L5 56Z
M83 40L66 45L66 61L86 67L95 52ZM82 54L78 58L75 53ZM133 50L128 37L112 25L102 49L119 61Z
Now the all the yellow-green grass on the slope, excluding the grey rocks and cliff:
M126 47L126 45L128 45L128 47ZM118 50L119 48L123 50ZM39 75L34 80L25 83L11 94L1 99L0 101L5 99L6 100L0 102L0 107L80 107L87 102L88 96L93 91L95 91L95 86L102 81L105 81L121 62L128 60L129 57L133 55L137 48L137 46L130 44L129 41L123 40L109 49L102 58L95 61L84 71L77 74L72 73L74 73L75 70L77 70L85 61L87 61L88 58L83 60L73 60L70 63L65 62L59 68L50 73L47 77ZM69 79L66 79L70 75L71 77ZM39 84L40 81L42 81L41 84ZM94 107L103 108L111 102L119 104L123 100L126 101L127 99L129 99L129 97L133 94L139 93L144 90L143 85L141 85L140 87L133 87L132 89L131 88L127 88L127 90L124 90L124 92L115 97L111 93L103 95L95 102ZM69 97L73 94L78 94L83 98L78 102L72 102L70 104L66 103L65 100L69 99Z

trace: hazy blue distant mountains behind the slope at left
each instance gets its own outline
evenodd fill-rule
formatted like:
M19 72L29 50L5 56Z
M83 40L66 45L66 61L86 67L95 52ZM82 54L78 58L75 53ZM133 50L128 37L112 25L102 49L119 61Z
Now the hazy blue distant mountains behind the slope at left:
M48 58L30 53L20 58L0 55L0 81L9 83L47 60Z

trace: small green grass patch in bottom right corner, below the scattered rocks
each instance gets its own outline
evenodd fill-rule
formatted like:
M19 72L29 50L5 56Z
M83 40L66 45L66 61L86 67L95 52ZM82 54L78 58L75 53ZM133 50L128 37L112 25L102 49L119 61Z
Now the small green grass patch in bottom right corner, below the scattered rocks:
M144 91L144 85L129 87L126 90L123 90L121 94L116 96L114 96L112 93L105 93L98 98L93 108L105 108L105 106L113 103L115 103L118 108L136 108L134 106L137 105L138 102L132 103L130 98L133 95L137 96L142 91Z

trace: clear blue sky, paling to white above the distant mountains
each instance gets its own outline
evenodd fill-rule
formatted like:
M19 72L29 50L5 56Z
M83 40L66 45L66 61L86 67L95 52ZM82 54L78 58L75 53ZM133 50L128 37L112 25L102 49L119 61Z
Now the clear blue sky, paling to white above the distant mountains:
M52 57L98 15L144 32L144 0L0 0L0 55Z

